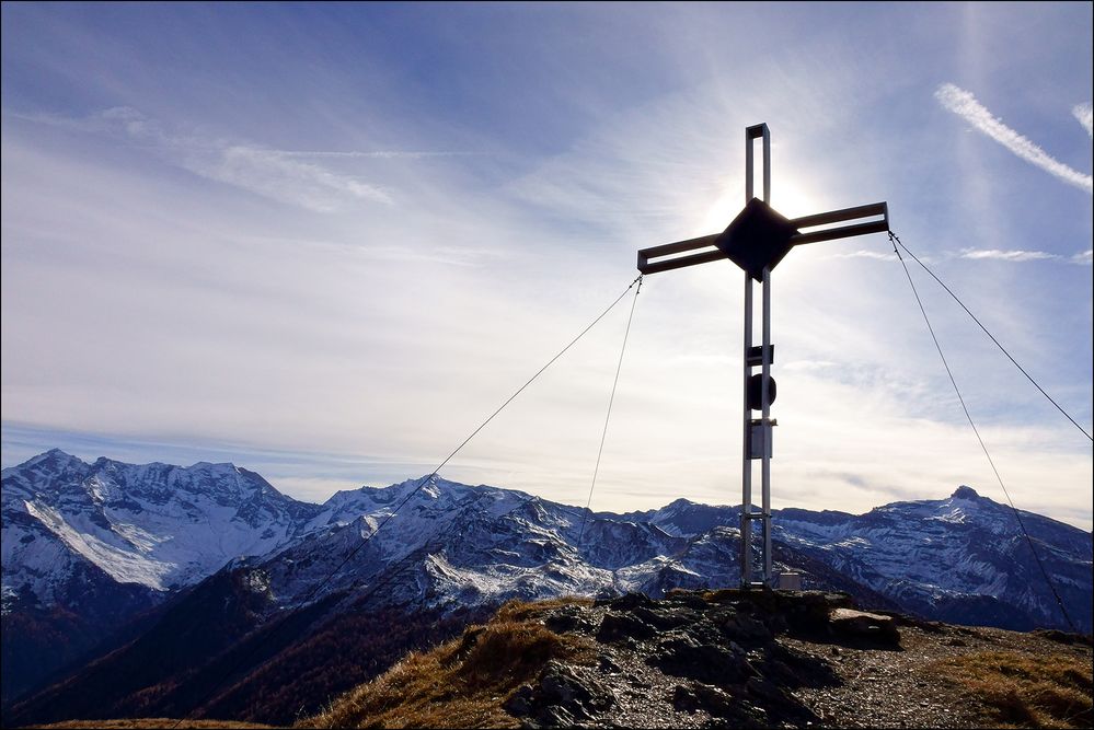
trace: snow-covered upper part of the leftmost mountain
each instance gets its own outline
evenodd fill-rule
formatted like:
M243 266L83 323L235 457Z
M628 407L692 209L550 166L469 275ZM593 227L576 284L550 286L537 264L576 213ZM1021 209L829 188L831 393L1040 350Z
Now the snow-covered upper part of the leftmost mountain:
M232 464L93 464L53 450L3 470L3 593L59 602L90 564L152 591L292 540L319 511Z

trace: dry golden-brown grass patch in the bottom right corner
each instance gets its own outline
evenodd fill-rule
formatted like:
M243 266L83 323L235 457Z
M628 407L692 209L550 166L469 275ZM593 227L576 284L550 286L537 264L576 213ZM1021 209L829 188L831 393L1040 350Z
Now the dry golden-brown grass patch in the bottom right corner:
M983 703L1001 728L1090 728L1094 670L1072 656L984 651L934 664Z

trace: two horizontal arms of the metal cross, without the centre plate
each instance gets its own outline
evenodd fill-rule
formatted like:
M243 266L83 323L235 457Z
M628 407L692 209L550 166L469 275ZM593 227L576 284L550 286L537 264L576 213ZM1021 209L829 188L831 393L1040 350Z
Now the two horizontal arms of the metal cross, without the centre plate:
M880 220L851 223L850 225L840 225L837 228L820 228L816 231L802 231L802 229L831 225L832 223L845 223L863 218L877 218L878 216ZM806 243L849 239L855 235L865 235L866 233L884 233L889 230L889 207L885 202L872 202L866 206L830 210L825 213L795 218L791 220L791 223L798 231L790 241L795 246ZM714 247L714 241L719 235L721 233L713 233L698 239L688 239L687 241L677 241L676 243L642 248L638 251L638 270L642 274L657 274L658 271L671 271L672 269L686 266L709 264L726 258L727 256L719 248ZM710 248L710 251L702 251L703 248ZM677 254L684 254L689 251L699 251L700 253L691 254L690 256L677 256ZM675 257L666 258L669 256Z

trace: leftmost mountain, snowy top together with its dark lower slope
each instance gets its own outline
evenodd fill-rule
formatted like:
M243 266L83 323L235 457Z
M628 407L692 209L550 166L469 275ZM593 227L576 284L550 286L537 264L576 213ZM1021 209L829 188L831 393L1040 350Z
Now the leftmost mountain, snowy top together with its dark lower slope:
M229 560L291 542L321 510L231 464L53 450L0 476L4 697Z

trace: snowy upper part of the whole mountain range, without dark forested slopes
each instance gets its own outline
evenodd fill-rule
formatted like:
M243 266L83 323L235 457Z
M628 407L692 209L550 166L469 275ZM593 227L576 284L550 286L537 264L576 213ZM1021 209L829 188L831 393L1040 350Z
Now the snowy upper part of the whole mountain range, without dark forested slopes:
M739 508L680 499L591 513L439 477L309 505L231 464L87 464L55 450L2 472L2 514L5 667L26 626L43 639L20 657L72 633L58 628L59 615L79 618L85 634L102 630L218 571L232 579L216 586L252 594L260 622L323 601L327 615L365 603L444 612L739 580ZM776 566L802 571L806 588L929 618L1066 627L1044 567L1090 631L1091 533L1022 519L1041 566L1010 508L968 487L861 515L784 509L773 520Z

